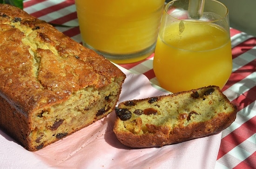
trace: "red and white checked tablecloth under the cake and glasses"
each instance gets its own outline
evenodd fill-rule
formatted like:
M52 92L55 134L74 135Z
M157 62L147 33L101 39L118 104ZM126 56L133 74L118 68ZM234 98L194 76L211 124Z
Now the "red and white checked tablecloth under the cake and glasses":
M52 23L58 30L81 43L74 0L25 0L24 10ZM61 25L61 26L60 26ZM233 70L223 93L237 105L236 121L222 131L216 169L256 168L256 37L230 28ZM144 74L158 85L152 69L154 54L122 67Z

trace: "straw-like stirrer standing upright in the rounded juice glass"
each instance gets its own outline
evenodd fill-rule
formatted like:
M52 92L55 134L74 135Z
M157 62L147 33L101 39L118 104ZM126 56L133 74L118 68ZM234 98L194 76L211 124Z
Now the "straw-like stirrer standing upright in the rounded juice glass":
M189 17L191 19L200 19L203 13L205 0L189 0Z

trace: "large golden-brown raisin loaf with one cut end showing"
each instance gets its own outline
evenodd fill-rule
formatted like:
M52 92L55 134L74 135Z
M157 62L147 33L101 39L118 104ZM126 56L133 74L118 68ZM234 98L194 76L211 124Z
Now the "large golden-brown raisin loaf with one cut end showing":
M0 5L0 129L27 150L106 117L124 79L103 56L45 21Z

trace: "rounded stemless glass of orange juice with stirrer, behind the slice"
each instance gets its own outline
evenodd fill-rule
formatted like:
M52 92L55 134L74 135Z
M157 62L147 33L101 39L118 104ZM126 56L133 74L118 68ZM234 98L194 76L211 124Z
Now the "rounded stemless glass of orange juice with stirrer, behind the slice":
M171 92L208 85L222 88L232 71L229 13L205 0L202 16L190 17L189 0L164 7L153 68L159 84Z

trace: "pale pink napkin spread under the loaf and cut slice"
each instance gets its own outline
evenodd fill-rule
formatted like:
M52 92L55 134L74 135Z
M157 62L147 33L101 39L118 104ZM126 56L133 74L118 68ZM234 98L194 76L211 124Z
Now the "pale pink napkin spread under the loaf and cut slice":
M120 68L127 79L120 101L166 94L144 75ZM46 148L29 152L0 130L1 168L68 169L213 169L221 134L162 148L129 149L113 132L115 112Z

